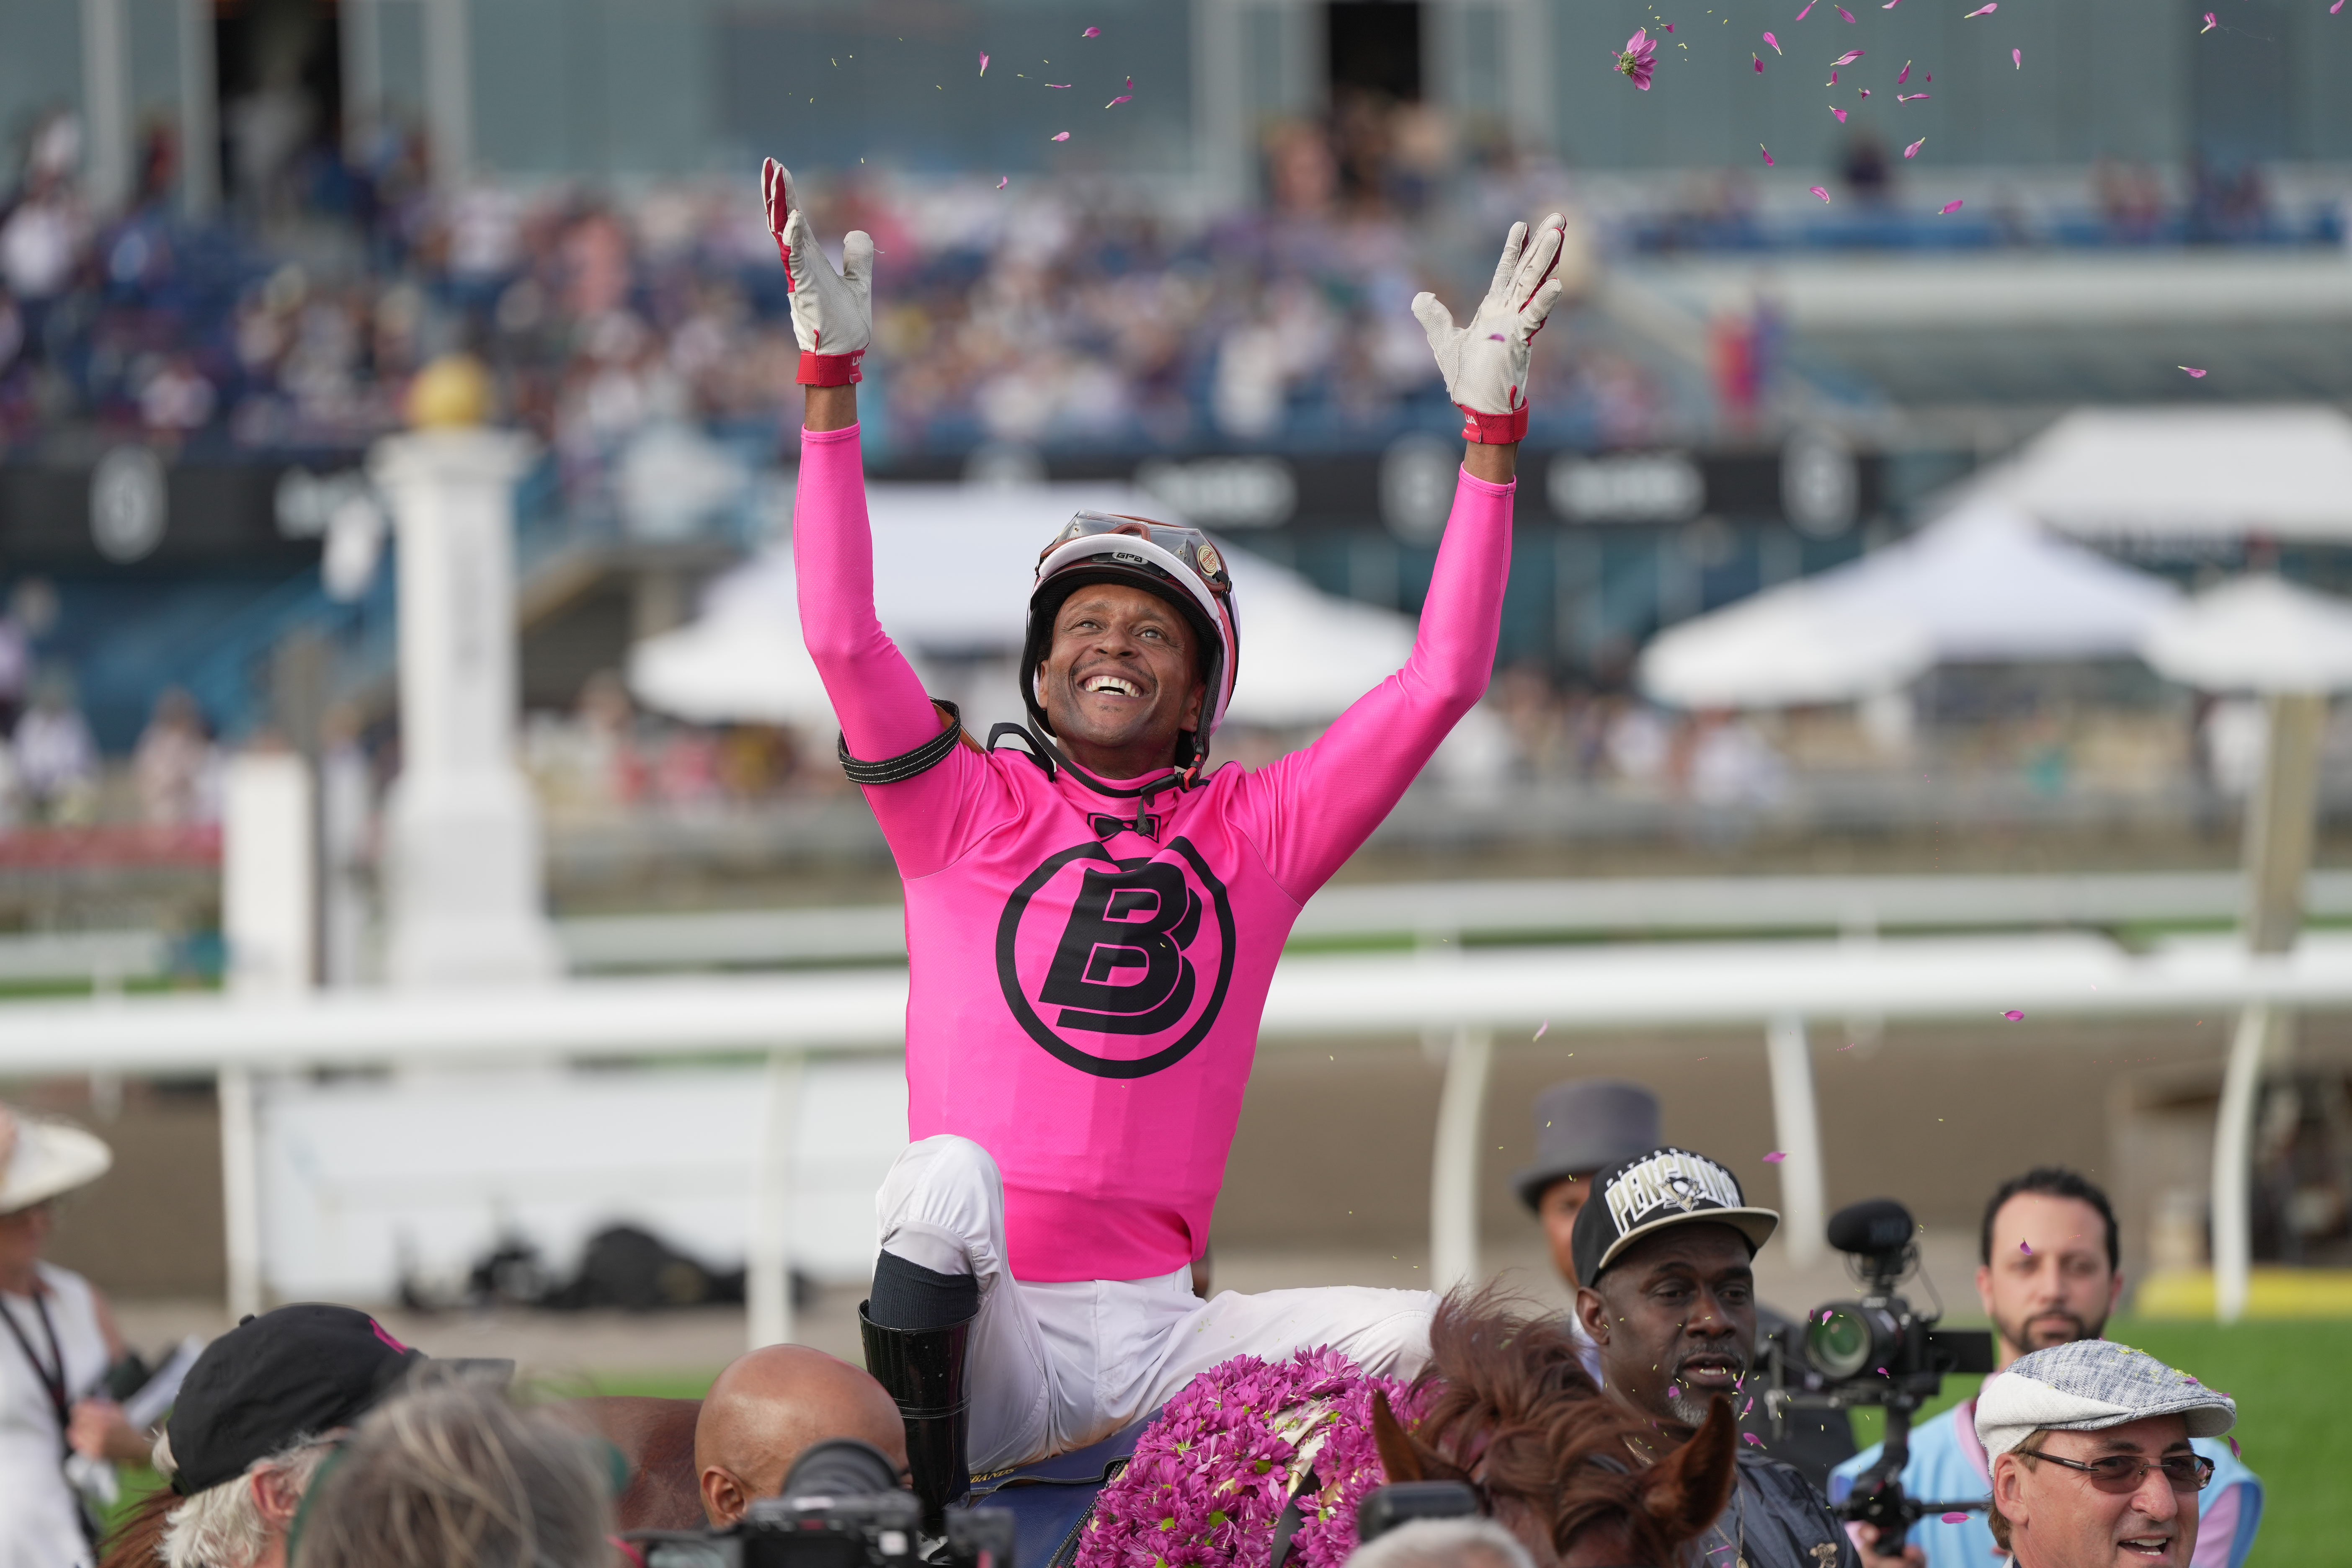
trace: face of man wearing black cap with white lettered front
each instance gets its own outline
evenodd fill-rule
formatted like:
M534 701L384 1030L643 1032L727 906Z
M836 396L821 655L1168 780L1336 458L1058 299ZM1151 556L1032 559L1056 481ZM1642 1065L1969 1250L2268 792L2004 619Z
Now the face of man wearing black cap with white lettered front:
M1625 1248L1576 1293L1576 1319L1602 1349L1602 1387L1644 1415L1703 1422L1755 1361L1748 1260L1748 1237L1710 1222L1672 1225Z

